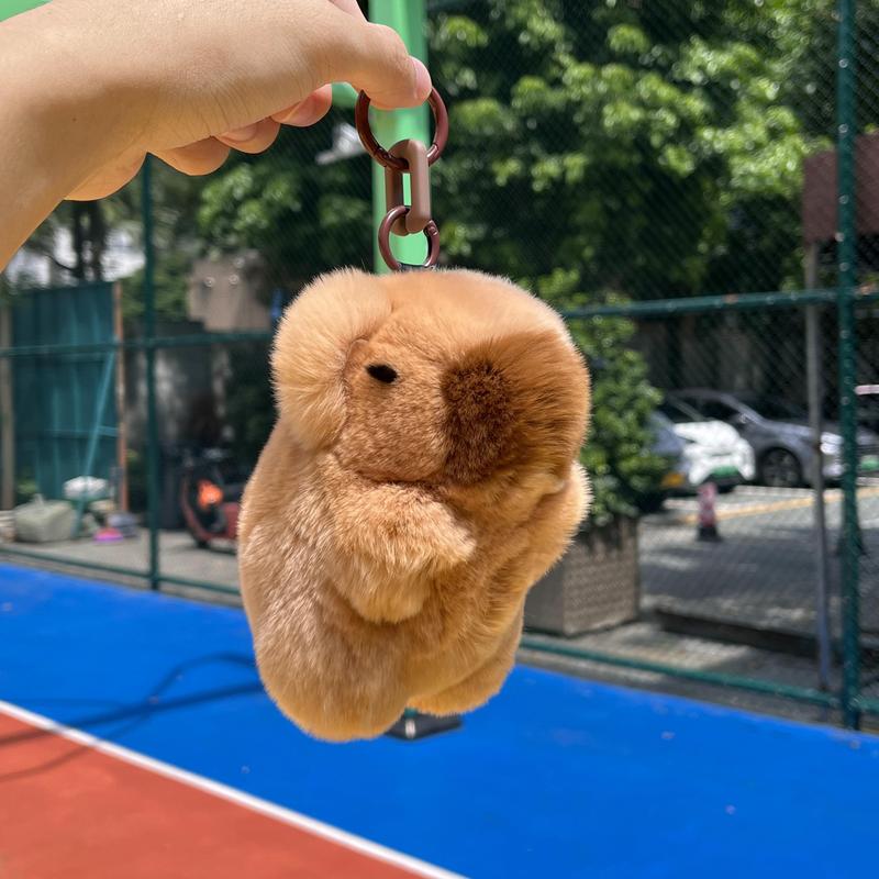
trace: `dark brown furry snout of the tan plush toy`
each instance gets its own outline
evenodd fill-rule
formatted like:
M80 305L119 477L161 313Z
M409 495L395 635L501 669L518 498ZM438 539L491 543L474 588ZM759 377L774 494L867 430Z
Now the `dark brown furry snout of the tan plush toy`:
M446 474L457 482L522 466L563 475L586 432L586 367L554 331L475 346L447 370L443 396Z

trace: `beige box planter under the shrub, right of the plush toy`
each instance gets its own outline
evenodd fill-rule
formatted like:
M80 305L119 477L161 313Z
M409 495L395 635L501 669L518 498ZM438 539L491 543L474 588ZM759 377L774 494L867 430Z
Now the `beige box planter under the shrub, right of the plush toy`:
M634 620L641 601L636 519L580 531L528 593L525 627L579 635Z

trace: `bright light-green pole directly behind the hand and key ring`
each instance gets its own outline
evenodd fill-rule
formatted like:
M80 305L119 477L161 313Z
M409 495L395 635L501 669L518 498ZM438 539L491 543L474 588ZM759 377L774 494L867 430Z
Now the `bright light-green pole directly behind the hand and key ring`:
M409 47L411 55L427 63L427 41L424 34L426 21L424 0L370 0L369 18L377 24L393 27ZM390 147L407 137L416 137L429 144L431 129L427 121L429 110L415 107L407 110L394 110L386 113L374 110L371 125L378 142ZM409 177L403 177L405 198L409 198ZM372 163L372 260L376 271L388 271L378 251L378 226L385 218L385 170ZM393 251L402 263L418 264L424 260L427 246L423 235L407 237L391 236Z

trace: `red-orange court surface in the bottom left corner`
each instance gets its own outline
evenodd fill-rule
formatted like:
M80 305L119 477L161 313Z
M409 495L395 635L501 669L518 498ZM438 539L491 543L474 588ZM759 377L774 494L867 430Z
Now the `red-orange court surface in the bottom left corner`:
M0 705L2 879L452 876L78 731L45 726L53 725Z

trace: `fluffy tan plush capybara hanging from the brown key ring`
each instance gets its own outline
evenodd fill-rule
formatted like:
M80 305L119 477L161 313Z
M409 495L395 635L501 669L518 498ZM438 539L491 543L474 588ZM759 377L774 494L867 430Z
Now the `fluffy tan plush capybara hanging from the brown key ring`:
M272 371L240 532L267 690L338 741L481 704L588 503L564 323L476 272L340 271L288 309Z

